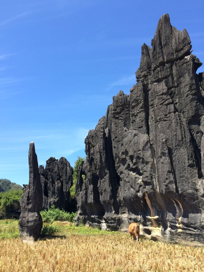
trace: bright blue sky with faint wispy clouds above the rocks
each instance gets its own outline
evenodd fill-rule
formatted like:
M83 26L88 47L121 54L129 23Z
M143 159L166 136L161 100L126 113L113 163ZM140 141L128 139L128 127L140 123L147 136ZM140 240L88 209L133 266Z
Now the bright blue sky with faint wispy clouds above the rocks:
M187 29L204 62L203 2L1 1L0 178L28 183L31 141L39 165L85 156L112 96L136 83L141 46L151 46L162 14Z

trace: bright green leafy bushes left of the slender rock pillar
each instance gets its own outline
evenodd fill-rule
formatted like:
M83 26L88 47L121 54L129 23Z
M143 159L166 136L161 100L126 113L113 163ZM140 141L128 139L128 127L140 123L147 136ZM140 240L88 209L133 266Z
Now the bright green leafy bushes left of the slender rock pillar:
M11 189L0 193L0 217L6 218L11 206L19 206L19 201L23 193L22 189Z

